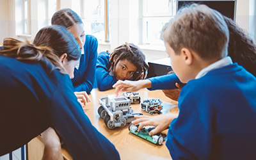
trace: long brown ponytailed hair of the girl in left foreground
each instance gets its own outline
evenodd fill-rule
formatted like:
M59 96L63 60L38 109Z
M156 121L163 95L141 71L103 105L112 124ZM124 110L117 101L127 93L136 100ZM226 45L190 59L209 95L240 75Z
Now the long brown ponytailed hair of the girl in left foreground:
M3 49L0 51L1 56L20 61L45 63L47 60L62 74L66 73L60 60L60 56L64 53L67 54L67 60L78 60L81 56L81 50L74 36L63 26L48 26L40 29L33 44L14 38L5 38Z

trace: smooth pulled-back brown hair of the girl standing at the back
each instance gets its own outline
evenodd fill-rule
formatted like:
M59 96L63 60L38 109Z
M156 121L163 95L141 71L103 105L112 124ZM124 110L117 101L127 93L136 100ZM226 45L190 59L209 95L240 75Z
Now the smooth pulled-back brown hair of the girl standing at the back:
M83 24L81 17L70 8L63 8L55 12L52 15L51 22L52 25L64 26L67 29L74 26L74 24Z

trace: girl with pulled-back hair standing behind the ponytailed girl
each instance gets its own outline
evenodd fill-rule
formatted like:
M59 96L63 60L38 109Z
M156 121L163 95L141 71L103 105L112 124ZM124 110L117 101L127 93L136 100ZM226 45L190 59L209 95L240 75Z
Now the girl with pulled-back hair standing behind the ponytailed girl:
M52 25L67 28L76 38L82 51L82 56L74 70L72 83L75 92L90 93L95 79L98 41L95 36L85 35L83 21L70 8L58 10L51 19Z

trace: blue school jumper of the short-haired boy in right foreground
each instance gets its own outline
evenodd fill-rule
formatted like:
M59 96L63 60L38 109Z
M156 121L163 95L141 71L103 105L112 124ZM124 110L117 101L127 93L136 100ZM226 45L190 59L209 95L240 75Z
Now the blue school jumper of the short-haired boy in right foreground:
M166 146L173 159L255 159L256 78L227 65L189 81Z

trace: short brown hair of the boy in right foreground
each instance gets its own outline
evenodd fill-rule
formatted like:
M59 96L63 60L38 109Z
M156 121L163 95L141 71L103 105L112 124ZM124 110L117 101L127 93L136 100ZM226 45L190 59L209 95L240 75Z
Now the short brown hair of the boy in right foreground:
M219 12L203 4L180 9L164 26L161 36L175 54L180 54L180 50L186 47L204 60L227 56L227 24Z

